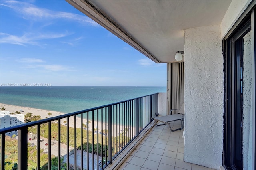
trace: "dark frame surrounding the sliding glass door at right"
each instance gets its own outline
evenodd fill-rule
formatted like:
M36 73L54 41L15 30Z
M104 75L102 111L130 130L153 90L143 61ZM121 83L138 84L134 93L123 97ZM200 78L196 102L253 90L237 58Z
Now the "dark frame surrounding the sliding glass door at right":
M247 34L250 30L256 28L256 22L252 21L253 19L256 20L256 11L252 14L254 14L254 17L251 18L251 12L253 11L254 7L251 8L250 12L247 13L246 16L242 20L240 20L240 23L236 25L236 28L232 28L232 32L228 35L227 38L223 39L222 41L222 49L223 49L223 55L224 55L224 141L223 141L223 157L222 157L222 163L223 166L227 170L236 170L240 168L236 168L234 163L234 134L232 132L234 131L232 128L234 127L234 119L232 116L234 116L234 107L236 103L236 99L234 99L235 96L235 89L236 87L236 75L234 75L234 56L232 56L231 50L232 40L238 40L238 38L241 38L245 34ZM251 24L254 24L254 26L251 26ZM249 31L248 31L249 30ZM254 30L252 30L254 32ZM254 33L254 41L256 41L256 35ZM254 54L255 52L255 46L254 44ZM255 57L255 56L254 56ZM255 72L255 70L254 70ZM254 94L255 96L255 94ZM236 101L237 102L237 101ZM232 108L233 107L233 108ZM254 121L255 122L255 121ZM254 131L255 132L255 129ZM256 135L255 135L256 136ZM254 137L255 137L254 136ZM254 138L255 141L255 138ZM232 147L233 146L233 147ZM254 146L254 153L255 153L255 146ZM243 165L242 165L243 166ZM254 167L255 167L255 157L254 157Z

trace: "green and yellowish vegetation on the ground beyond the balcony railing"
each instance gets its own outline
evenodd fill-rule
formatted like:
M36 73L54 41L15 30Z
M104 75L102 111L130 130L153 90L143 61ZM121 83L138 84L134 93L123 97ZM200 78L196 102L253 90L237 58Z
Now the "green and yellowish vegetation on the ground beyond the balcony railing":
M38 116L33 116L32 113L26 113L24 116L25 122L30 122L30 121L36 121L40 120L41 117ZM68 136L68 142L69 145L74 147L74 139L76 138L76 148L73 149L82 149L84 151L88 151L89 153L93 154L98 154L99 156L107 156L108 157L108 137L98 135L98 140L97 140L97 134L94 134L94 131L87 131L86 130L86 124L82 125L82 129L77 128L76 129L76 134L75 134L75 129L72 127L67 127L65 125L60 125L60 129L58 129L58 121L57 123L52 122L50 124L51 126L51 137L50 140L59 140L58 139L58 132L60 131L60 142L62 144L67 144L67 128L69 128L69 136ZM64 123L65 121L63 121ZM44 138L48 138L48 123L40 124L40 136L42 134L44 135ZM97 131L97 128L94 128L95 131ZM124 147L124 144L122 144L122 141L129 141L130 139L125 135L127 129L124 130L123 133L120 134L120 136L112 137L113 141L113 156L117 152L119 152L122 147ZM28 132L32 133L31 138L34 139L35 134L37 133L37 126L29 127ZM87 136L88 132L88 136ZM81 144L81 133L82 133L82 141L83 143ZM101 130L101 133L105 133L106 135L108 134L108 130ZM29 134L28 134L29 135ZM6 136L5 137L5 154L7 158L5 159L5 169L8 170L16 170L17 169L17 162L18 162L18 143L17 140L15 139L16 135L14 134L12 137ZM28 136L29 137L29 136ZM88 140L88 141L87 141ZM103 141L103 142L102 142ZM120 141L120 142L119 142ZM87 148L87 142L88 142L88 148ZM50 142L49 142L50 143ZM81 147L82 146L82 147ZM54 146L52 146L54 147ZM106 152L107 151L107 152ZM74 150L73 150L74 152ZM70 152L72 153L72 151ZM37 149L34 144L28 143L28 169L29 170L35 170L36 169L36 160L37 159ZM43 149L40 149L40 170L48 170L48 153L45 153ZM51 156L51 169L52 170L57 170L58 169L58 157L52 155ZM66 170L66 162L63 162L63 157L61 158L61 170ZM102 162L102 164L104 164ZM74 170L74 165L70 164L69 166L70 170ZM82 170L81 167L77 167L78 170Z

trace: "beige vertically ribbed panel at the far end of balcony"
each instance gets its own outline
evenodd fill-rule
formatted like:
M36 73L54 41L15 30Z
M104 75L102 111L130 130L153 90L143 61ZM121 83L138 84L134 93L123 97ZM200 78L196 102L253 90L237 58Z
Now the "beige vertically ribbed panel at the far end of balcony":
M184 103L184 62L167 63L167 113ZM172 114L178 110L172 111Z

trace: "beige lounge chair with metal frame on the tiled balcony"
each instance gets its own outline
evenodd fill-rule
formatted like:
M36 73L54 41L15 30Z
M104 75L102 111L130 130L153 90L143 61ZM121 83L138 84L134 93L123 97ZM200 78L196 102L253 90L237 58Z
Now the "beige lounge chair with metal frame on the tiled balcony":
M171 115L172 111L174 110L179 110L177 114L173 114ZM160 117L154 117L153 119L155 120L155 123L157 126L161 126L161 125L169 125L169 128L172 132L174 131L177 131L177 130L182 130L183 127L184 127L184 115L185 115L185 112L184 112L184 103L182 104L182 106L180 107L180 109L172 109L170 110L169 112L169 115L167 116L160 116ZM170 125L170 122L172 121L181 121L181 127L178 128L178 129L174 129L172 130L171 128L171 125ZM162 122L162 124L157 124L158 122Z

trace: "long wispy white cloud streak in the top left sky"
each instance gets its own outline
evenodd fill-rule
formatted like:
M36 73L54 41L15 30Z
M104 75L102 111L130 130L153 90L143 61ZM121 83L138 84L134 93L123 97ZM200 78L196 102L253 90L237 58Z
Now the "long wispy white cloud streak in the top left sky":
M99 26L98 23L96 23L94 20L87 16L70 12L52 11L46 8L38 8L37 6L24 1L2 0L0 2L0 5L12 8L15 12L20 14L22 18L28 20L38 21L40 19L67 19L75 22L80 22L82 24L89 24L91 26Z

